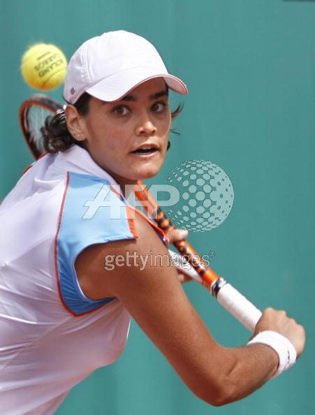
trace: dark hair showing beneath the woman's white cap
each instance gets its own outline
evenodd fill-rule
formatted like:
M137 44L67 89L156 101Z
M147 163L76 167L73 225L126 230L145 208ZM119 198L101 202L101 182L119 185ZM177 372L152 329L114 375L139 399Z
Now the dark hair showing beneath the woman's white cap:
M80 96L78 101L73 104L78 110L80 115L87 115L89 112L89 101L91 95L85 92ZM184 105L180 104L177 108L170 113L173 119L180 115ZM172 133L179 134L177 131L170 130ZM73 145L80 145L84 147L82 141L75 140L71 133L68 131L66 123L66 114L64 110L58 110L55 115L50 115L45 119L45 125L41 128L43 135L43 147L46 153L56 154L57 152L64 152ZM168 149L170 148L170 142L168 142Z

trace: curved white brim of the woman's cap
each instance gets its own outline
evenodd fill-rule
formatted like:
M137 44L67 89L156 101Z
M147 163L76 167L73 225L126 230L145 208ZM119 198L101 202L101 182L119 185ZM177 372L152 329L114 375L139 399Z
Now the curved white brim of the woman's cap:
M101 101L118 101L128 94L131 89L153 78L164 78L166 85L170 89L182 95L188 94L188 89L180 78L169 73L156 73L154 68L143 66L115 73L115 75L109 76L87 88L86 92L95 98L101 99Z

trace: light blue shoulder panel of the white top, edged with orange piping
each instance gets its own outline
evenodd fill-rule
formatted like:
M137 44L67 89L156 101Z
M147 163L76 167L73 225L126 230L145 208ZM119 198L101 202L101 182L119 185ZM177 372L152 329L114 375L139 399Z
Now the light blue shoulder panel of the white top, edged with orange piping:
M113 300L91 300L82 293L75 259L89 245L135 238L129 228L126 200L115 194L107 180L68 173L68 187L57 239L61 295L74 314L95 310Z

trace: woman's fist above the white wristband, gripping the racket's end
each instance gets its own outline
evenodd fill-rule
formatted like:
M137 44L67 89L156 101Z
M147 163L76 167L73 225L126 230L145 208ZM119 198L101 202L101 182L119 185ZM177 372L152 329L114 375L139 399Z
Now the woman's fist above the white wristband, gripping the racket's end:
M305 347L305 329L294 319L290 319L285 311L267 308L256 325L254 335L265 330L277 331L290 340L298 357L302 354Z

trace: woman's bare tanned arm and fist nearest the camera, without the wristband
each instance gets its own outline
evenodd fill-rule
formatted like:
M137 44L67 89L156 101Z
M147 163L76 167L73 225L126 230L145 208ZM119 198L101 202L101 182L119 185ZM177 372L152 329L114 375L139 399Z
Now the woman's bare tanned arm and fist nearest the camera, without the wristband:
M75 268L85 294L119 298L186 386L211 405L239 400L262 386L277 370L277 354L264 344L229 349L219 345L186 297L177 270L167 261L150 266L150 256L154 265L154 256L168 255L163 242L138 215L135 226L138 239L93 245L80 254ZM138 266L131 265L133 253ZM104 269L108 255L119 264L111 271ZM141 256L142 261L148 258L145 269ZM302 352L304 329L284 312L268 309L256 328L257 333L261 330L278 331Z

